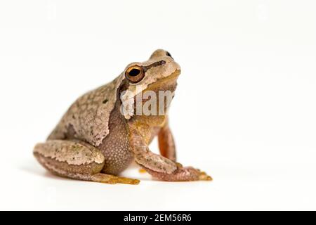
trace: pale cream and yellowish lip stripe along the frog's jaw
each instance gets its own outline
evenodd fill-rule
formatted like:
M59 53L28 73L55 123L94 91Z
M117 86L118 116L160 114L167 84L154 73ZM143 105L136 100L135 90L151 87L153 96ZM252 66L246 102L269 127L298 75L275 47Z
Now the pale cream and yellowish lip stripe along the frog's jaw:
M151 84L137 84L137 85L130 85L129 89L124 91L124 94L120 96L121 98L121 113L124 115L126 120L131 119L133 117L133 110L130 105L130 103L133 103L133 98L139 94L142 91L150 91L157 86L167 83L167 82L172 82L178 78L180 75L180 70L175 70L174 72L171 73L168 77L163 77L161 79L154 79L154 81Z

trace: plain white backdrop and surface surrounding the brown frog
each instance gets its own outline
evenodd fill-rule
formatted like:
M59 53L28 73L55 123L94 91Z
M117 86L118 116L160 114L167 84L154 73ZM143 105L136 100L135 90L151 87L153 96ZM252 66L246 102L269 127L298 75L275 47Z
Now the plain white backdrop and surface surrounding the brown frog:
M0 210L316 210L315 1L1 1ZM72 101L163 48L178 160L212 182L62 179L33 158ZM152 145L157 151L157 146Z

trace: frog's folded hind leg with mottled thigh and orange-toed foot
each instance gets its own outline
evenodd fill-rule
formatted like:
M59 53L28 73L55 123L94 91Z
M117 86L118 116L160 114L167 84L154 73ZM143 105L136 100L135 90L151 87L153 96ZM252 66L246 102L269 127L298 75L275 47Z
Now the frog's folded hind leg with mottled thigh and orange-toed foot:
M103 154L83 141L49 140L38 143L34 156L43 167L58 176L107 184L139 184L137 179L100 173L105 165Z

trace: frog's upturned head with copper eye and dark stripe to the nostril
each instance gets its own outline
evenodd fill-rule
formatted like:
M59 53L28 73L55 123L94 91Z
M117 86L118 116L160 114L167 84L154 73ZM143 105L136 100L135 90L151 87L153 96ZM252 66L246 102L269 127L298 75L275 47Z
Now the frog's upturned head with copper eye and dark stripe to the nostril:
M173 60L168 51L158 49L152 53L149 60L143 63L130 63L124 70L125 88L121 92L121 101L123 105L127 102L136 106L136 101L143 103L157 98L157 103L164 98L172 98L176 90L176 81L180 75L180 65ZM171 96L170 96L171 95ZM166 107L169 106L166 103ZM133 110L135 111L135 110ZM129 119L135 112L129 110Z

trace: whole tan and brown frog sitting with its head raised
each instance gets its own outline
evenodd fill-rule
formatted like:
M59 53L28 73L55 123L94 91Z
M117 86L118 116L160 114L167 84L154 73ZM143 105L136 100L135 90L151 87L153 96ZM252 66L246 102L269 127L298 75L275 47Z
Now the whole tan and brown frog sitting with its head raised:
M172 101L180 72L163 49L142 63L130 63L112 82L74 101L46 141L34 147L34 157L49 172L81 181L139 184L139 179L119 176L132 163L158 181L211 181L206 172L177 162L170 103L166 96L152 101L152 94L161 92L171 94ZM164 104L158 113L159 103ZM143 110L145 104L150 113ZM155 137L159 153L149 148Z

